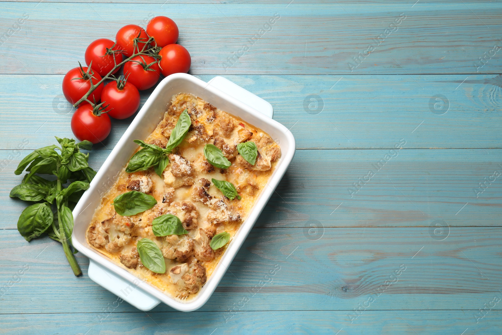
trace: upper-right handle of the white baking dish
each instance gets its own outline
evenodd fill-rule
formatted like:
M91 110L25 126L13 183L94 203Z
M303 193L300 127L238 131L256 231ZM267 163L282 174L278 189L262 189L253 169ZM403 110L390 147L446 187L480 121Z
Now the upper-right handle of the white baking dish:
M270 102L265 101L258 95L255 95L248 90L240 87L234 82L221 77L216 76L207 82L209 85L216 87L220 91L225 92L231 97L239 100L242 103L247 104L249 107L255 108L260 113L272 119L274 116L274 108Z

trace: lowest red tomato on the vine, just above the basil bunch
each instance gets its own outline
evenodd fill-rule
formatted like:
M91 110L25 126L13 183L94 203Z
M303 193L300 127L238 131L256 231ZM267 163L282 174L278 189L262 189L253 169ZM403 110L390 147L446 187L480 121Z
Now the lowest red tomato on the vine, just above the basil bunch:
M87 140L96 144L103 141L111 130L110 117L106 114L100 114L97 111L96 115L93 113L91 104L83 102L80 107L75 110L71 118L71 131L73 135L79 140Z

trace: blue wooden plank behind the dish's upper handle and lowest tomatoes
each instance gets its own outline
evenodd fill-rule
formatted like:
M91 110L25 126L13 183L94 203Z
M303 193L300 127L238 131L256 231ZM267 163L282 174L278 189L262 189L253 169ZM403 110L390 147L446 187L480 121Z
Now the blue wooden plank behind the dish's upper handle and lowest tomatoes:
M393 148L401 139L405 148L502 148L501 75L226 77L270 101L274 119L291 129L299 149ZM60 75L0 75L0 124L9 125L0 149L26 141L25 149L36 149L52 144L54 135L73 137L61 81ZM142 93L142 102L150 93ZM448 103L436 101L438 95ZM323 105L319 114L315 99L317 108ZM130 123L113 120L101 148L113 148Z

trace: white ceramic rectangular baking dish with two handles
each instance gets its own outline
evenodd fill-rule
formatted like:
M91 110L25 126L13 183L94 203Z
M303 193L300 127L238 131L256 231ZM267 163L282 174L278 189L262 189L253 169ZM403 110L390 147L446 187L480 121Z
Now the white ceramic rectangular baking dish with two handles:
M117 266L92 249L85 239L85 231L101 197L113 185L122 168L126 166L131 155L138 148L133 140L144 140L150 135L163 118L173 94L180 92L192 93L221 110L263 129L281 147L281 159L268 182L268 187L262 191L252 211L242 222L206 284L189 302L171 298L155 286ZM192 311L201 307L214 292L295 154L293 135L286 127L272 120L272 113L270 103L223 77L215 77L206 83L189 74L177 73L162 80L111 151L92 180L89 189L82 195L73 210L75 222L72 235L73 246L89 258L89 278L141 310L150 310L161 301L180 311Z

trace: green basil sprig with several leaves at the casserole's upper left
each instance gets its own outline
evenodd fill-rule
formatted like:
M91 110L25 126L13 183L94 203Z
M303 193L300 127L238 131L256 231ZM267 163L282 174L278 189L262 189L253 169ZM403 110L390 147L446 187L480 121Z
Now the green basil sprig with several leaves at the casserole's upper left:
M161 148L155 144L147 144L140 140L134 140L136 144L143 147L140 151L131 157L129 164L126 168L126 172L132 173L136 171L145 171L151 167L154 167L155 172L162 177L162 172L169 164L168 155L173 151L174 148L179 146L186 134L192 121L188 115L187 109L183 110L180 114L180 118L174 126L169 141L166 145L166 149Z

